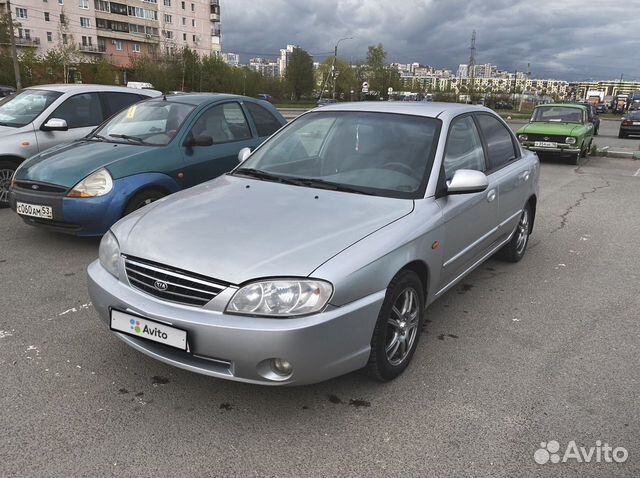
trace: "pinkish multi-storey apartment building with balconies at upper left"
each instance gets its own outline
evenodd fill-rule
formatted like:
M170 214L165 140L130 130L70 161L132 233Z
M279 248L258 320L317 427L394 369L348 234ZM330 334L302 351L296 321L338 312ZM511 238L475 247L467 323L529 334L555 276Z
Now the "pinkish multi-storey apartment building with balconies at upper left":
M0 13L6 13L0 0ZM73 51L127 67L136 55L220 53L220 0L12 0L19 48Z

